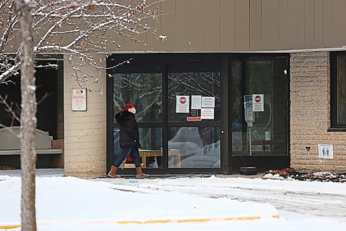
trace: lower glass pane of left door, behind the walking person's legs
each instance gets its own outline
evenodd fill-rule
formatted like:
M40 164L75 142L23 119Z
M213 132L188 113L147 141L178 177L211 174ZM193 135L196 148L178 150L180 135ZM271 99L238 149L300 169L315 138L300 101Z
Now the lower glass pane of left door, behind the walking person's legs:
M120 155L119 128L113 129L113 162ZM157 169L162 167L162 128L139 128L140 160L143 168ZM133 163L125 165L125 169L134 168Z

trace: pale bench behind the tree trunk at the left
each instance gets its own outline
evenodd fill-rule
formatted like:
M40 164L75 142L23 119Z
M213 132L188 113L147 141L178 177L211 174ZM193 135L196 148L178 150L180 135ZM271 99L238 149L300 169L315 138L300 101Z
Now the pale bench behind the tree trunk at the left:
M20 127L13 126L0 129L0 156L20 155L21 140L19 138ZM53 144L53 147L52 147ZM37 155L60 155L55 159L51 167L63 167L63 140L53 140L48 132L35 130L35 148Z

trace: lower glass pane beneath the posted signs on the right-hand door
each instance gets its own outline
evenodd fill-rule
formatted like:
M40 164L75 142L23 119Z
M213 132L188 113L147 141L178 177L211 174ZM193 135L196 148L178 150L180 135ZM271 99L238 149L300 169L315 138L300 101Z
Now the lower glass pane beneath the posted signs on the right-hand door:
M174 127L168 131L168 167L219 168L220 128Z

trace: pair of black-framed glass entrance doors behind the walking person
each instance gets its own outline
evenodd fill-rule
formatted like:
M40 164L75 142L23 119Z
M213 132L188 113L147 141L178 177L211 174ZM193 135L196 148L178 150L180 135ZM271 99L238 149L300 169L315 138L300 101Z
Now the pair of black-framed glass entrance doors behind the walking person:
M116 57L122 62L129 56ZM146 173L221 172L221 62L215 57L220 55L131 55L129 65L109 71L109 168L120 153L114 116L131 102ZM119 173L133 173L131 168L127 161Z

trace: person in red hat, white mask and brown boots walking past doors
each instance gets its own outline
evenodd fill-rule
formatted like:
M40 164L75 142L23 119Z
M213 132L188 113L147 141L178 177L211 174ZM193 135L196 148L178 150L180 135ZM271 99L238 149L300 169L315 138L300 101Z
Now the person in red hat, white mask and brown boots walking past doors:
M120 126L120 156L116 159L111 166L108 176L111 178L120 178L116 174L118 167L125 161L128 155L134 157L134 164L136 166L136 178L147 178L149 175L143 173L142 166L140 166L140 157L138 148L140 148L138 124L136 121L136 105L133 103L126 103L125 107L116 114L116 122Z

